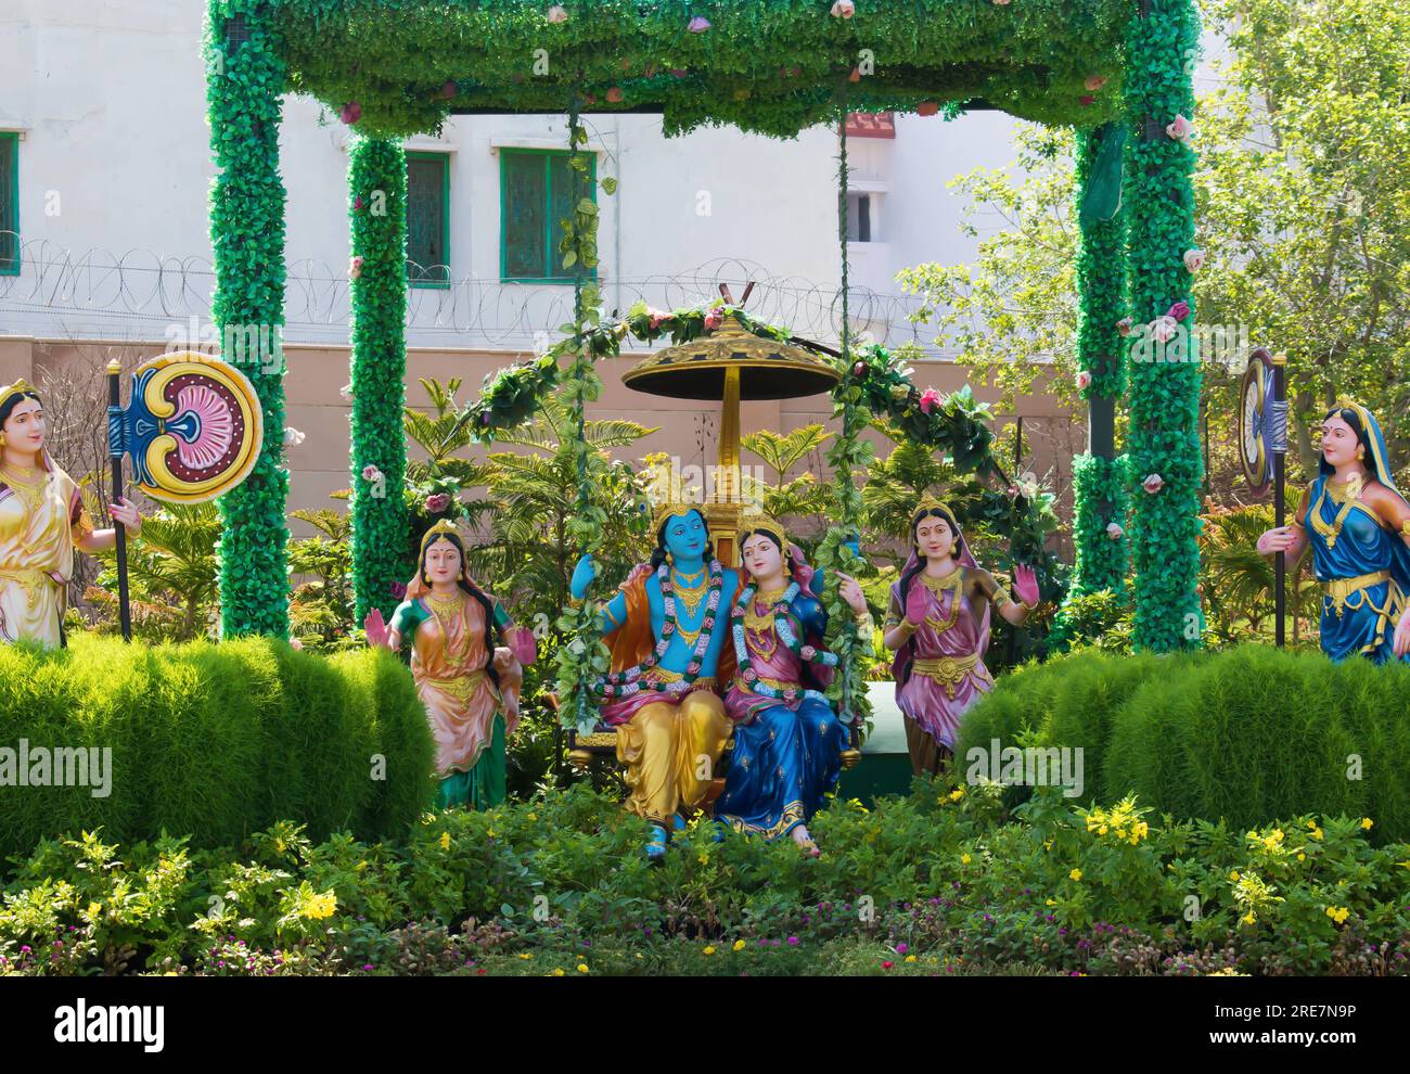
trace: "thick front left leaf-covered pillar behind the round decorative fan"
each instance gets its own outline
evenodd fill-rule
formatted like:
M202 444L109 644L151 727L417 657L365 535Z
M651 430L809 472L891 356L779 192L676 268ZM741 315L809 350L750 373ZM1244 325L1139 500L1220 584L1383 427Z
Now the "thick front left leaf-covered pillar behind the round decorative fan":
M206 103L216 180L210 242L216 289L210 316L221 354L254 383L264 409L264 448L250 476L220 499L221 634L289 630L283 468L283 180L279 176L285 89L272 4L210 0Z

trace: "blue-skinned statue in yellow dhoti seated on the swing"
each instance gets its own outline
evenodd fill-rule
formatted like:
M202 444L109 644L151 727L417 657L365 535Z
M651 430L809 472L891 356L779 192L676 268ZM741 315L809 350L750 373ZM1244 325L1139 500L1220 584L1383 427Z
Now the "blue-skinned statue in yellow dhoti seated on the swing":
M709 791L730 723L716 681L733 672L728 629L719 623L739 574L713 555L705 516L688 503L656 513L656 548L602 605L612 669L598 684L602 722L616 727L626 767L629 812L651 822L647 857L666 854ZM596 576L591 553L578 560L570 591L581 600Z

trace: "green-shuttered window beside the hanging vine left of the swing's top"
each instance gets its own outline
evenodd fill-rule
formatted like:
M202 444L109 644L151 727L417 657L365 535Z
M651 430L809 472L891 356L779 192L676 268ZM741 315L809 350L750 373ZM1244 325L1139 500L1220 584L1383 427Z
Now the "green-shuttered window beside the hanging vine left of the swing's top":
M598 161L588 173L588 197L596 202ZM563 149L499 151L499 278L520 283L572 279L563 266L560 223L572 211L572 171ZM596 278L596 269L591 271Z

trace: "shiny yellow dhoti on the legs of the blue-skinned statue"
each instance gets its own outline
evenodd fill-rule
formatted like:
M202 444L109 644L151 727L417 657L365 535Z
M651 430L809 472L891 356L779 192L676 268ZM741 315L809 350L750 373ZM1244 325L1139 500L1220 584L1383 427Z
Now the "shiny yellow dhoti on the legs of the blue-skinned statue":
M618 760L626 767L627 812L670 825L699 806L729 740L725 702L708 689L680 702L656 700L618 727Z

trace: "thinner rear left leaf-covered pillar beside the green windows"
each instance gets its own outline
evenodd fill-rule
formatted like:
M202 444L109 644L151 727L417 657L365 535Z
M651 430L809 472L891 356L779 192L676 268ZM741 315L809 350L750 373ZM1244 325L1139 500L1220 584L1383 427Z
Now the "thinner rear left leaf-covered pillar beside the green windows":
M352 258L352 589L357 622L391 615L406 564L406 154L355 137L348 147Z

